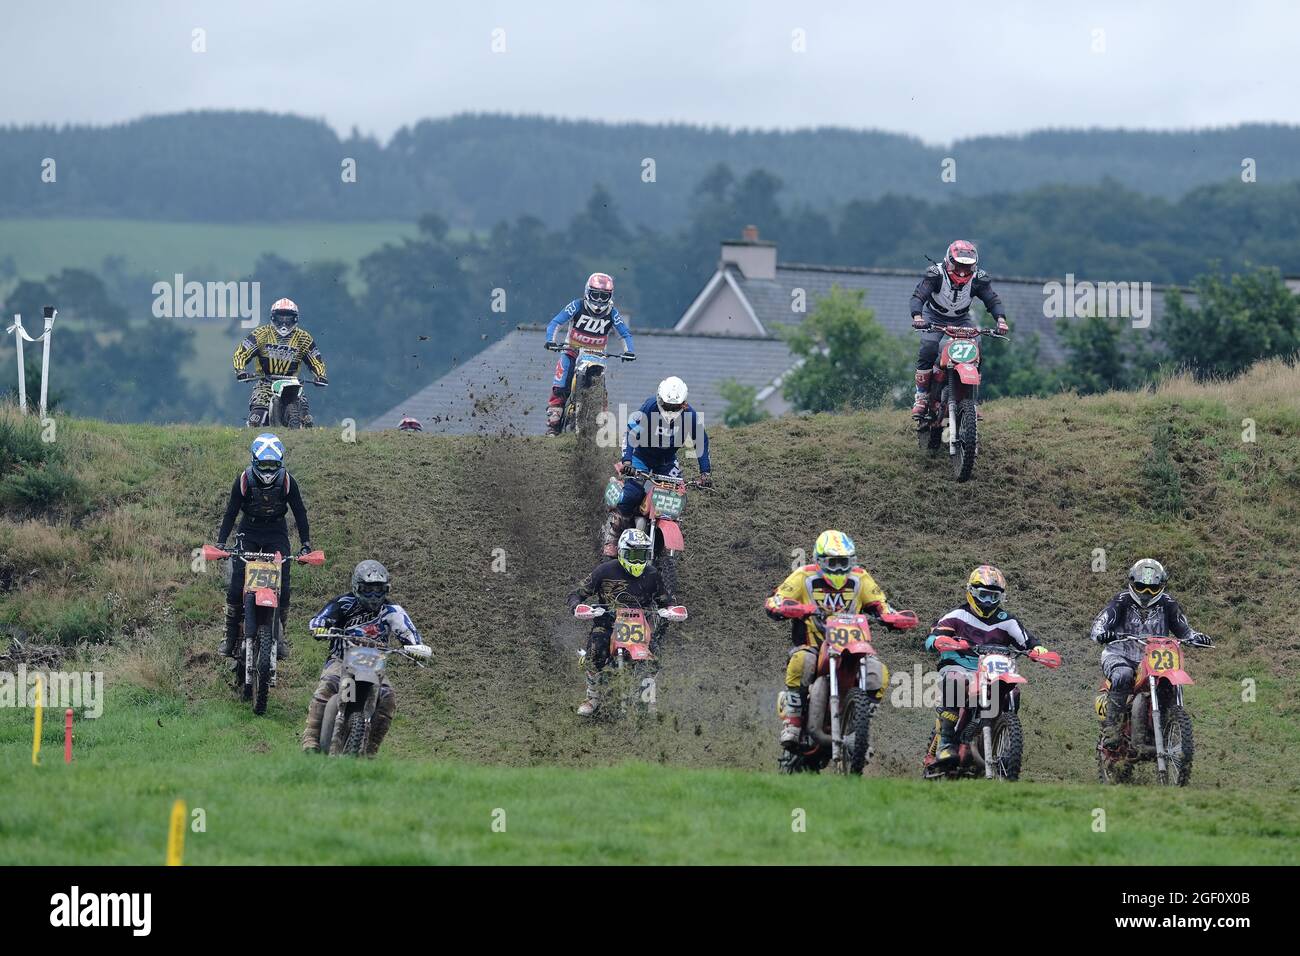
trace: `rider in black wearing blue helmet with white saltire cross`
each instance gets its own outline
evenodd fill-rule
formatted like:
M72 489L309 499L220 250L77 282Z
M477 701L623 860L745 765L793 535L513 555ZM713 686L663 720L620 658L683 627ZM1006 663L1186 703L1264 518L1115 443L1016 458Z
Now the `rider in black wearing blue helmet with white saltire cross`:
M277 436L264 432L252 440L248 451L248 467L239 472L230 488L230 501L226 503L226 514L222 516L221 529L217 532L217 548L228 550L226 538L230 537L235 518L243 512L237 538L244 550L268 554L280 551L282 555L287 555L290 554L289 524L285 515L292 510L294 522L298 525L298 540L302 542L302 550L298 554L307 554L312 550L307 506L303 503L303 493L298 488L298 480L285 467L285 445ZM289 620L289 571L292 563L286 561L281 564L280 640L276 645L278 659L289 657L285 633ZM239 623L243 619L243 576L244 562L233 558L230 585L226 588L226 639L221 644L221 653L225 657L235 656L235 644L239 641Z

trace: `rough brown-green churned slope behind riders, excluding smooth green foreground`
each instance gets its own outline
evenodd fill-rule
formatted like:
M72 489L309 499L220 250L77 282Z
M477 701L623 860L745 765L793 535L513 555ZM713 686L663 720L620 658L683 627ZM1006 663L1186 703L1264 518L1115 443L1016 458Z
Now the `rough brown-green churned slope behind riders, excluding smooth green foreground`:
M1242 442L1245 418L1254 420L1253 444ZM18 444L14 423L5 411L0 425L10 437L0 438ZM923 622L953 606L971 566L997 563L1011 583L1010 604L1065 657L1058 671L1026 671L1026 783L1014 797L998 797L1015 803L1000 805L1039 800L1028 796L1039 783L1069 784L1037 791L1044 803L1091 800L1091 806L1101 799L1087 786L1096 773L1098 680L1087 630L1140 554L1166 562L1192 622L1219 641L1190 656L1197 758L1193 792L1176 799L1200 806L1204 796L1195 791L1232 790L1234 801L1252 791L1252 805L1294 808L1300 791L1300 767L1284 758L1300 743L1294 679L1300 645L1286 630L1300 614L1295 368L1257 367L1214 386L1175 380L1153 394L988 403L987 446L976 480L963 486L942 463L918 459L909 424L896 411L719 429L718 492L698 493L688 505L681 597L692 619L664 652L659 714L590 724L573 715L581 630L568 618L564 596L593 563L607 472L604 460L576 455L571 438L363 433L346 444L333 432L287 436L313 541L329 561L295 571L295 656L273 692L270 719L254 721L212 676L218 575L190 567L191 549L213 535L248 436L88 420L58 428L44 484L32 470L0 458L6 506L0 627L30 631L43 643L90 643L81 653L108 672L109 713L101 726L82 731L88 745L79 761L90 771L103 766L99 754L113 754L131 787L136 777L148 779L144 767L160 757L177 765L176 779L200 786L203 774L216 770L203 771L199 754L238 754L235 766L255 774L256 753L291 749L324 650L303 636L303 624L346 587L356 561L377 557L393 571L395 598L434 657L428 670L395 678L400 710L386 758L372 770L329 771L346 774L332 779L415 783L462 774L472 788L489 778L438 767L451 761L576 769L634 758L766 775L680 778L724 780L727 791L741 779L784 788L789 784L770 779L760 784L775 769L774 701L786 648L784 628L766 619L760 604L794 549L810 549L824 527L841 527L894 604L914 607ZM79 484L61 484L64 472ZM21 514L38 486L62 488L62 503ZM491 571L497 548L506 553L502 574ZM1108 554L1105 574L1089 570L1098 548ZM919 641L916 632L885 633L878 650L896 674L910 674L931 666ZM1247 679L1257 689L1249 702ZM207 727L216 739L176 730L168 731L172 743L161 734L155 743L147 730L153 717L162 727ZM927 710L884 709L871 773L914 778L931 719ZM0 711L6 774L25 758L25 734L30 714ZM57 739L58 728L49 728L47 745L57 749ZM191 753L196 762L186 769ZM52 750L48 760L57 756ZM384 769L428 757L438 763ZM268 757L268 773L286 786L311 778L280 760ZM94 773L104 787L118 779ZM547 773L560 790L573 779ZM543 778L491 778L504 779L524 787ZM614 787L608 792L623 792L618 787L625 783L592 779ZM91 799L108 792L104 787L77 792ZM906 787L897 799L922 792ZM805 787L796 782L794 790ZM52 793L34 788L29 796L20 819L30 823L32 808ZM1290 832L1294 847L1296 814L1271 808L1261 810L1260 821L1265 817L1279 827L1271 835ZM1208 852L1190 858L1208 861ZM242 857L230 851L222 858Z

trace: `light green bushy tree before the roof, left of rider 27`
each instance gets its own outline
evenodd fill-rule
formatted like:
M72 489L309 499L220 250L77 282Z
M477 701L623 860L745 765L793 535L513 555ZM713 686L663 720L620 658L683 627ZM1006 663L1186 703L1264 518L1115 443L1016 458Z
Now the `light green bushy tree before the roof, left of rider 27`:
M832 286L802 323L783 328L790 351L801 359L784 388L796 408L866 408L910 381L904 343L863 307L862 297L861 290Z

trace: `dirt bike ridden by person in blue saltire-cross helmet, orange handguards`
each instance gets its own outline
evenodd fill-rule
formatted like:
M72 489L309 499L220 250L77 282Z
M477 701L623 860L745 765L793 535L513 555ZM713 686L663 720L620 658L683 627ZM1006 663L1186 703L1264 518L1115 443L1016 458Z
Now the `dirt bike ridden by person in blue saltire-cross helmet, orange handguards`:
M325 563L325 551L282 555L280 551L246 551L239 540L234 550L203 546L204 561L239 558L244 562L243 620L239 622L239 648L231 667L235 689L252 700L255 714L266 713L266 693L276 685L276 644L281 636L280 580L286 561L299 564Z

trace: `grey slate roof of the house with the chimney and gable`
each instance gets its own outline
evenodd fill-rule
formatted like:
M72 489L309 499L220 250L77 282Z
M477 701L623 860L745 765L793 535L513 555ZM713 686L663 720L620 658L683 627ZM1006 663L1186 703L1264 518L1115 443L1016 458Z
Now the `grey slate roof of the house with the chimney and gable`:
M816 303L827 295L832 285L841 289L861 289L863 303L875 311L876 321L898 336L909 336L911 315L907 302L911 299L919 272L902 269L867 269L844 265L807 265L803 263L779 263L776 278L746 278L734 267L727 267L732 278L745 293L758 320L768 334L776 334L776 325L792 325L801 321ZM1045 362L1057 363L1065 359L1057 334L1056 320L1043 315L1044 286L1053 280L1018 278L993 276L993 289L997 290L1006 307L1008 319L1017 333L1039 333L1040 355ZM1056 280L1063 281L1063 280ZM809 312L794 312L790 308L792 293L803 289ZM1167 286L1152 286L1152 329L1158 328L1165 313L1165 291ZM1195 304L1196 297L1190 290L1180 290L1184 299Z

